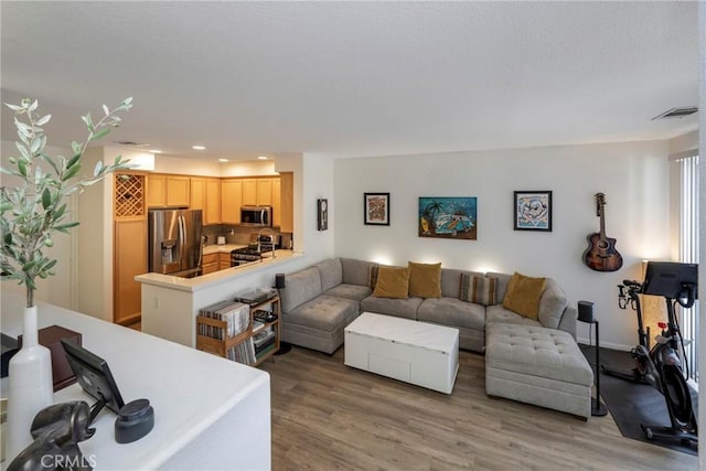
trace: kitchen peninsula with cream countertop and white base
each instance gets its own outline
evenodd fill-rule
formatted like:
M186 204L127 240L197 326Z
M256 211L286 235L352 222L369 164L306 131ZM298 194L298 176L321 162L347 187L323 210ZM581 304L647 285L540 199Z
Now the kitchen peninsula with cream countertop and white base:
M270 288L276 272L293 271L301 260L300 253L278 249L261 261L196 278L138 275L135 280L142 285L142 332L195 347L196 315L202 308L254 288Z

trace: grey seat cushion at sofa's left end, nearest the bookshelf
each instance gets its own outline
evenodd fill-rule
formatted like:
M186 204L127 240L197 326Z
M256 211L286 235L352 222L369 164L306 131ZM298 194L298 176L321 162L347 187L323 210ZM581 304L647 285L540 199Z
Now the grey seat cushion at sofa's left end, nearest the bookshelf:
M285 322L333 332L357 314L357 301L321 295L285 314Z

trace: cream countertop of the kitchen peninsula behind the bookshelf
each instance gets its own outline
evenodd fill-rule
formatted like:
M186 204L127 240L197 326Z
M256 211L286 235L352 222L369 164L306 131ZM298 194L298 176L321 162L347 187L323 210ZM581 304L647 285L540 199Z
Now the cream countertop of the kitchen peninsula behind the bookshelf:
M226 246L221 245L216 247ZM162 274L143 274L135 277L135 280L141 283L156 285L180 291L199 291L216 283L229 281L234 277L237 277L239 275L252 274L265 268L271 268L277 265L287 264L300 257L301 255L302 254L298 251L280 249L275 250L275 257L267 256L264 257L261 261L255 264L226 268L223 270L214 271L212 274L202 275L196 278L180 278Z

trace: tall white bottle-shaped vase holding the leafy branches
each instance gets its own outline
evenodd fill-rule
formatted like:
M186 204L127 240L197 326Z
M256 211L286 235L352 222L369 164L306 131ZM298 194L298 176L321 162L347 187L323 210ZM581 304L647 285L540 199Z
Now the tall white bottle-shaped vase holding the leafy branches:
M24 308L22 347L10 358L6 462L30 443L36 413L54 403L52 354L39 344L36 306Z

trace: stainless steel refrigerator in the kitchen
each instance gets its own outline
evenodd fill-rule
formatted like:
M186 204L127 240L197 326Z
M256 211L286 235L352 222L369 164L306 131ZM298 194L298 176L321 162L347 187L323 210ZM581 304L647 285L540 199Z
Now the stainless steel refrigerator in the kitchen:
M201 275L201 210L150 210L150 272L192 278Z

